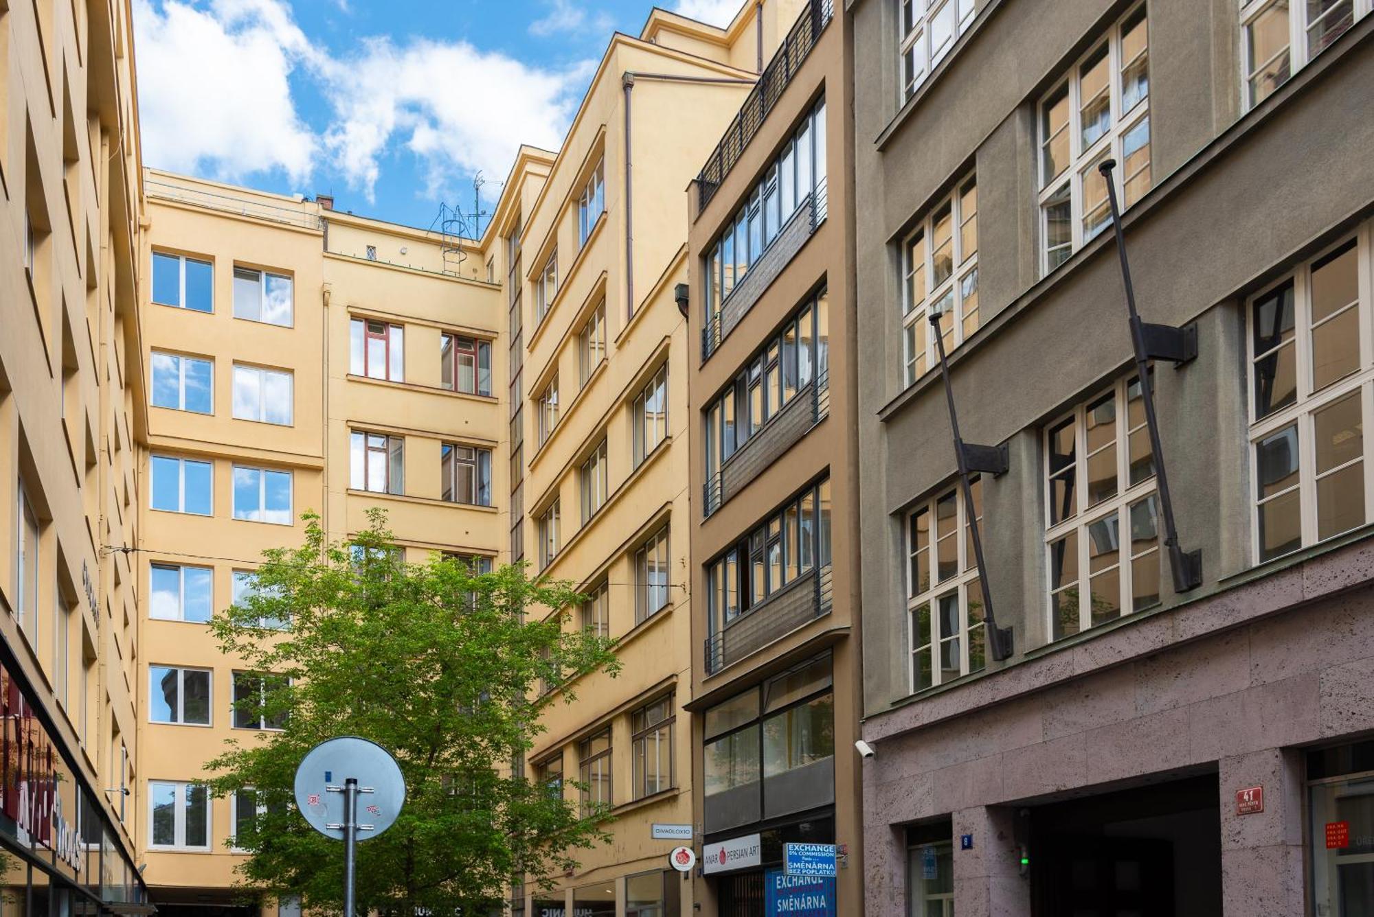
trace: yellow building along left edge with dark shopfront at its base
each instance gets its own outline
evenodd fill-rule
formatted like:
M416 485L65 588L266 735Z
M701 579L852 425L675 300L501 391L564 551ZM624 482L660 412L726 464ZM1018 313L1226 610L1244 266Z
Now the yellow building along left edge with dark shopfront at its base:
M0 1L0 906L137 872L137 111L122 0Z

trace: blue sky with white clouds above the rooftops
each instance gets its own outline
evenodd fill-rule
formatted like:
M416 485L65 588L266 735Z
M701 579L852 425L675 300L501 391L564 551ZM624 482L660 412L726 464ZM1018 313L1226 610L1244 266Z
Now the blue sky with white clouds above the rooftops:
M658 0L723 23L743 0ZM555 147L653 0L135 0L143 159L429 227ZM485 225L485 222L484 222Z

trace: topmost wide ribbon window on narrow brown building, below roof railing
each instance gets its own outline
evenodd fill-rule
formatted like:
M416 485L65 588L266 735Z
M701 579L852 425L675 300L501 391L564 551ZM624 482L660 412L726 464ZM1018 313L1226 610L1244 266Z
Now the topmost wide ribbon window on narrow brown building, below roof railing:
M706 324L745 279L783 225L811 203L812 191L826 180L826 100L816 103L782 155L768 163L706 257Z

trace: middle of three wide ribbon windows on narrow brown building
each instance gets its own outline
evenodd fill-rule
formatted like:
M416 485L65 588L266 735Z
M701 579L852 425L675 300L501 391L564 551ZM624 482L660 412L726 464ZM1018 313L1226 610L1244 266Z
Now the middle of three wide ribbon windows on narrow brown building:
M706 405L708 479L713 479L725 460L791 404L798 391L827 372L829 351L829 294L822 290Z

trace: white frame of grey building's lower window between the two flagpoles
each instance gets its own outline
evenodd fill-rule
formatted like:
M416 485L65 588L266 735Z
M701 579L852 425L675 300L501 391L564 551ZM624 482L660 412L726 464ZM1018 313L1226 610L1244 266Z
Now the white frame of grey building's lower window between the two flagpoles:
M1041 449L1044 452L1044 458L1041 463L1041 482L1044 486L1044 520L1046 520L1046 534L1044 534L1044 559L1046 559L1046 622L1050 640L1062 640L1072 637L1073 634L1063 634L1055 637L1057 620L1054 615L1054 593L1068 592L1069 589L1077 589L1079 593L1079 627L1074 633L1083 633L1094 627L1092 623L1092 572L1107 572L1107 570L1091 571L1090 570L1090 531L1091 527L1116 513L1117 518L1117 531L1116 531L1116 568L1118 572L1118 604L1117 618L1127 618L1138 611L1145 611L1146 608L1153 608L1158 604L1158 596L1162 593L1162 574L1164 574L1164 557L1161 553L1162 534L1160 531L1160 515L1158 515L1158 475L1153 469L1154 460L1151 457L1150 474L1140 482L1131 485L1131 435L1136 434L1139 437L1147 438L1147 430L1145 423L1145 413L1142 408L1140 421L1131 426L1129 401L1128 390L1132 382L1135 382L1135 373L1128 373L1116 382L1113 382L1106 388L1099 388L1092 393L1090 398L1084 398L1072 410L1068 410L1050 423L1044 426L1041 434ZM1116 419L1114 419L1114 439L1112 441L1112 448L1116 449L1116 493L1112 497L1101 500L1099 502L1088 507L1088 461L1091 456L1088 454L1087 446L1087 410L1090 406L1096 405L1105 395L1110 394L1113 397ZM1054 487L1050 486L1051 480L1051 431L1055 430L1061 423L1070 420L1073 421L1073 486L1074 486L1074 512L1065 519L1051 524L1054 519ZM1101 454L1107 446L1102 445L1092 452L1092 454ZM1156 518L1154 518L1154 546L1134 552L1134 545L1131 541L1131 508L1146 500L1154 500ZM1065 586L1055 589L1054 585L1054 545L1065 537L1073 535L1076 538L1076 561L1074 568L1077 570L1077 579L1073 586ZM1142 608L1135 608L1135 592L1134 592L1134 566L1135 561L1154 553L1157 556L1157 570L1160 571L1161 583L1156 583L1157 600ZM1110 567L1110 564L1109 564Z

